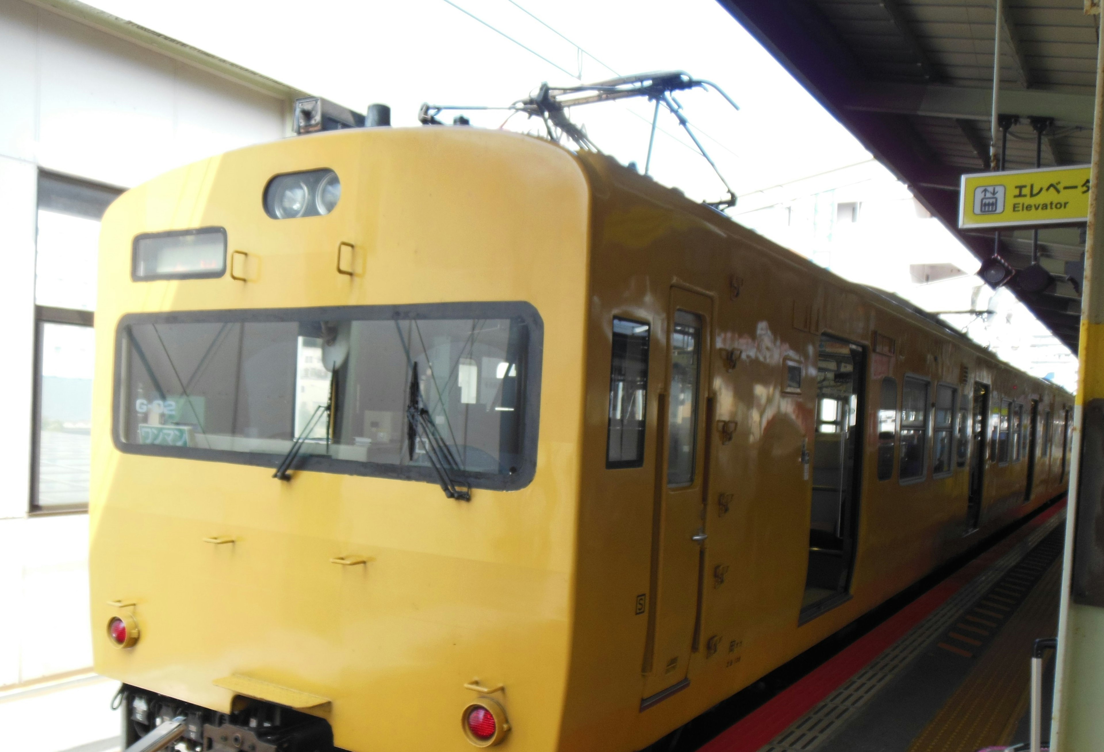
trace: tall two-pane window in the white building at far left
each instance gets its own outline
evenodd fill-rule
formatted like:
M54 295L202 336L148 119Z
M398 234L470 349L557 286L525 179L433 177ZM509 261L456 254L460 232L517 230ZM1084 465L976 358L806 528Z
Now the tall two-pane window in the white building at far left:
M32 512L88 504L99 222L119 193L39 173Z

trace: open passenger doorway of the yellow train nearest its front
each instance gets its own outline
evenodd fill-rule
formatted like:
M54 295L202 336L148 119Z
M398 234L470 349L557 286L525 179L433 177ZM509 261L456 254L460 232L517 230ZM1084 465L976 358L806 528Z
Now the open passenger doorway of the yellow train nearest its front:
M854 566L864 358L862 347L827 334L817 358L809 558L800 621L848 598Z

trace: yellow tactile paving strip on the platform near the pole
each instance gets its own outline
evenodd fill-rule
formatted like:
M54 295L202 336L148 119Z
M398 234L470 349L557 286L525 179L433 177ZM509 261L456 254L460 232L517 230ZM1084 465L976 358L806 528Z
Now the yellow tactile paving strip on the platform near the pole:
M1054 561L909 752L974 752L1007 744L1028 702L1031 643L1054 634L1062 561ZM941 645L943 646L943 645Z

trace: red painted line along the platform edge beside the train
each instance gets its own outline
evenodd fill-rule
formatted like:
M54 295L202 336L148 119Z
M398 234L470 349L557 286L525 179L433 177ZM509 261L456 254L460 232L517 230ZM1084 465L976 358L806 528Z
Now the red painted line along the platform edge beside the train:
M772 739L815 708L818 702L858 674L863 666L903 637L909 630L924 621L966 583L1063 508L1065 508L1064 498L730 726L700 748L700 752L756 752L768 744Z

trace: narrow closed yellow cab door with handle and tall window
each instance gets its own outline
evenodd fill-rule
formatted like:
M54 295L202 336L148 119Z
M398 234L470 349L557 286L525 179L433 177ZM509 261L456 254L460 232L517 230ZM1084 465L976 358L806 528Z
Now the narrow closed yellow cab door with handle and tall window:
M689 684L701 612L708 515L709 343L712 300L671 289L667 331L668 388L660 396L651 539L651 608L640 709Z

